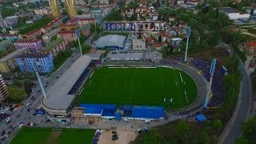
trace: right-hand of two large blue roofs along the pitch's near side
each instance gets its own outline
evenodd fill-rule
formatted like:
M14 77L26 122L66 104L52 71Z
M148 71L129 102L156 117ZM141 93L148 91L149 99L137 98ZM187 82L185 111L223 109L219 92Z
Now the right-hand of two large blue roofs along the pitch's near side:
M133 118L161 118L164 117L163 106L134 106Z

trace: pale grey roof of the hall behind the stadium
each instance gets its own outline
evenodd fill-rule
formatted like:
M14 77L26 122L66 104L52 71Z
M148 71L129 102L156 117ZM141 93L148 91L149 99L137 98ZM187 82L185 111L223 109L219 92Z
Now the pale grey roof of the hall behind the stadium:
M95 42L95 46L98 48L105 48L106 46L118 46L123 47L126 36L118 34L108 34L98 38Z

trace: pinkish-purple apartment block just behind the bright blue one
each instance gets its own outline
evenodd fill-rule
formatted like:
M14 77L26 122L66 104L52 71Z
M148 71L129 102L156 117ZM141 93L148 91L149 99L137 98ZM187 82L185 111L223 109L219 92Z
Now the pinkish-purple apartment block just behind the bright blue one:
M40 39L19 39L14 42L15 49L29 48L31 52L38 53L42 50L42 40Z

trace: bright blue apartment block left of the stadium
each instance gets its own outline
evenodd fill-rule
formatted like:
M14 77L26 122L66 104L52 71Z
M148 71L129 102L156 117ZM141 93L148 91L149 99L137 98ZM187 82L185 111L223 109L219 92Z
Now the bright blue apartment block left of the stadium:
M22 73L33 72L49 74L54 70L53 57L50 54L21 54L16 58L19 70Z

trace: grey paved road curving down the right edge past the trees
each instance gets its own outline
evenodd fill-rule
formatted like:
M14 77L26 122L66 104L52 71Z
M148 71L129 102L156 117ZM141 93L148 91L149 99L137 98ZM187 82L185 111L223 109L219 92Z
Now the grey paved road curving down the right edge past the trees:
M233 51L225 43L220 42L220 45L226 50L233 54ZM241 123L245 122L250 114L251 102L252 102L252 89L250 76L246 72L246 67L243 65L242 61L239 64L240 70L242 70L242 87L238 98L238 104L234 111L233 116L230 118L230 122L227 123L225 129L222 131L220 136L221 140L219 143L231 144L234 143L239 136L242 134Z

